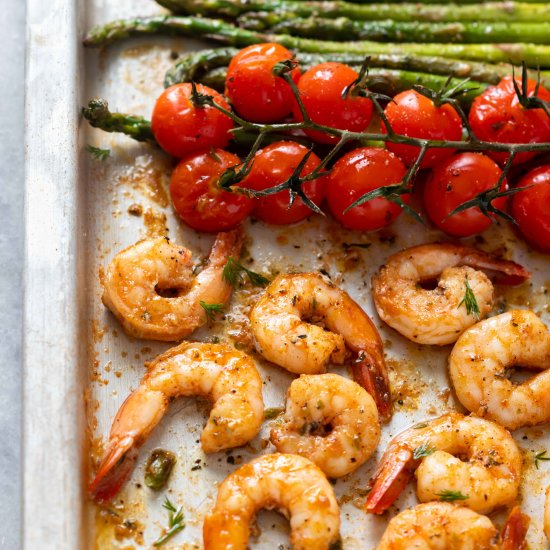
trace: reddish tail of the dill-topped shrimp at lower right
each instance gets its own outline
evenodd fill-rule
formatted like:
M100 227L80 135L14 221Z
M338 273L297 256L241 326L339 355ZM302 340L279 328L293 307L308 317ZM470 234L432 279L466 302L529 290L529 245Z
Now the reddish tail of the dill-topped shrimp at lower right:
M413 462L412 452L405 448L382 457L367 496L367 513L382 514L395 502L411 479Z

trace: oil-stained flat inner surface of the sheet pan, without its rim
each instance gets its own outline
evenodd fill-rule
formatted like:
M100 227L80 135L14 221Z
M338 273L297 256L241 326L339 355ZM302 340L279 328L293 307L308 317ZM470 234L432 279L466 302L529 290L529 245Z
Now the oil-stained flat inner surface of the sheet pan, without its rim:
M84 12L75 19L75 25L81 25L78 27L80 35L84 28L92 24L160 11L148 0L94 0L85 4ZM75 90L75 93L81 102L92 97L104 97L113 109L149 117L154 100L162 89L163 74L173 63L171 52L199 47L201 44L195 41L149 39L126 42L102 53L79 53L83 55L78 68L83 85L81 91ZM78 55L75 59L78 59ZM97 459L114 414L129 391L137 387L145 372L144 362L170 347L166 343L135 340L122 331L101 303L99 270L108 265L117 251L148 234L167 231L172 240L189 247L198 258L207 254L212 237L199 235L186 228L171 210L166 199L171 161L162 153L130 139L90 129L85 123L80 125L79 132L78 139L75 134L76 141L72 145L78 144L79 147L74 153L77 174L75 204L81 218L80 225L73 220L66 230L69 235L78 236L81 248L77 256L85 257L84 267L80 271L76 269L77 260L71 260L73 278L68 281L69 290L74 285L80 291L77 317L82 319L82 325L78 336L81 347L85 349L81 349L80 355L73 349L66 360L71 369L80 369L81 372L80 376L73 377L70 386L78 396L78 404L87 406L87 435L91 443L89 449L85 448L82 423L75 421L69 445L75 456L82 458L86 469L90 465L86 457L91 453ZM87 143L109 148L109 159L101 162L82 154L82 148ZM70 145L67 144L67 147ZM59 209L62 204L63 201L59 199L53 208ZM128 207L135 204L142 208L141 216L128 213ZM262 223L248 223L246 232L247 255L253 260L253 269L266 275L280 271L324 269L364 307L380 329L396 395L395 414L391 423L383 428L382 441L376 455L347 478L338 480L334 487L341 504L343 548L374 548L387 525L388 517L398 509L402 510L417 502L411 485L389 515L382 518L366 516L361 510L364 501L362 491L387 441L413 422L447 410L461 409L453 392L449 391L446 361L450 347L436 349L417 346L384 326L373 308L370 277L389 254L407 246L441 239L442 235L404 216L390 231L381 234L347 232L332 220L319 217L282 229ZM371 243L371 246L368 249L348 249L343 246L350 242ZM533 307L548 322L546 292L550 276L547 260L528 251L507 228L500 226L491 229L479 246L486 250L504 251L507 257L524 263L533 271L533 278L528 285L508 292L502 300L506 299L507 307ZM32 268L32 258L28 261ZM78 284L75 281L77 274L82 277ZM61 296L62 299L75 299L75 292L71 292ZM249 349L246 313L256 297L254 292L237 291L225 320L197 331L192 338L204 341L218 336ZM52 300L53 297L48 299ZM40 307L48 306L43 303ZM65 319L64 322L69 323L71 319ZM35 336L38 338L38 335ZM267 364L257 355L254 355L254 359L264 380L266 407L282 406L291 375ZM27 368L31 374L29 366ZM343 368L331 370L346 374ZM37 388L34 391L38 391ZM59 396L52 399L59 399ZM259 453L273 451L270 444L262 450L269 434L269 422L266 422L261 434L250 446L230 453L205 455L198 445L205 410L203 403L191 398L176 400L170 406L167 415L142 446L131 481L108 509L96 508L87 502L83 491L74 493L72 489L74 498L83 503L80 535L87 547L150 547L166 525L166 514L161 506L166 495L174 503L184 506L186 528L171 539L165 548L202 546L202 518L212 506L217 483L237 468L239 463ZM533 451L547 448L550 440L545 428L520 430L515 433L515 437L526 456L521 496L523 510L532 517L529 542L532 548L541 548L545 544L542 503L548 476L545 464L540 470L534 468L532 456ZM150 451L157 447L172 450L178 457L170 483L160 493L143 485L144 462ZM30 468L29 462L26 468ZM85 480L86 473L84 483ZM29 491L30 488L26 493L27 499ZM65 501L62 513L66 518L74 518L77 509L78 506L73 508ZM499 515L492 517L497 522L502 520ZM135 527L121 527L123 520L131 520ZM30 521L31 518L27 516L26 529ZM262 512L258 518L258 527L252 547L289 547L288 526L282 516Z

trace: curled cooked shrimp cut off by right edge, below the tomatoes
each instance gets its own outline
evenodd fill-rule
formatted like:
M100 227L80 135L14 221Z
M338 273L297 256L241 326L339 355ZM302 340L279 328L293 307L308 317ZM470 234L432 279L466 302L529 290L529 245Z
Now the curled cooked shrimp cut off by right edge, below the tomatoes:
M521 384L511 367L542 370ZM532 311L512 310L466 330L449 358L460 402L515 430L550 421L550 332Z

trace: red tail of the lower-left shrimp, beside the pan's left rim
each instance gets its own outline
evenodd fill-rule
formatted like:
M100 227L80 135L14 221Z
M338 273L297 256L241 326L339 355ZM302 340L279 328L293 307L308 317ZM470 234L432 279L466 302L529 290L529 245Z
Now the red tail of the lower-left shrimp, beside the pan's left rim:
M126 483L136 465L138 450L133 437L111 445L90 483L89 492L97 502L111 500Z

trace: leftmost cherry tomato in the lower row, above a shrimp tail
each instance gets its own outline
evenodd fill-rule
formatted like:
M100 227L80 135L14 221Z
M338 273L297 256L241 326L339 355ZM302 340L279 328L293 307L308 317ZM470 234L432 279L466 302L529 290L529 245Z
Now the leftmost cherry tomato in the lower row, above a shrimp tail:
M170 196L187 225L209 233L228 231L250 214L252 199L218 187L220 175L240 162L223 149L195 153L180 161L170 179Z

